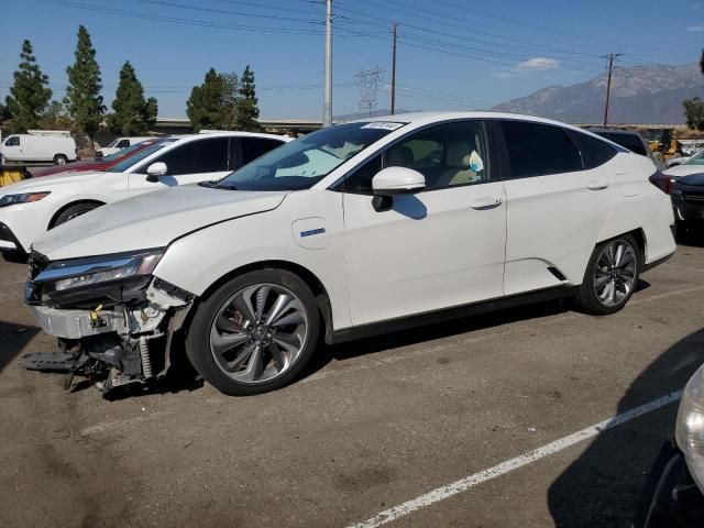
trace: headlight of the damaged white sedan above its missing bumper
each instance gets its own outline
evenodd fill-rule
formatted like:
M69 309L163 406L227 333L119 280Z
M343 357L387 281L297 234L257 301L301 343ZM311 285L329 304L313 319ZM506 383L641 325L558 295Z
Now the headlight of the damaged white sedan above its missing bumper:
M54 290L80 288L124 278L150 275L164 249L142 250L133 253L69 258L50 264L34 283L53 283Z

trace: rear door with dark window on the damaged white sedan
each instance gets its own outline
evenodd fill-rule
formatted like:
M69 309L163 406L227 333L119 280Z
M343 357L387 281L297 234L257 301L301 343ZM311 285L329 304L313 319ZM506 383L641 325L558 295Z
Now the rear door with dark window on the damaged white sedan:
M513 120L493 125L504 140L506 295L581 284L612 209L610 178L587 168L565 129Z

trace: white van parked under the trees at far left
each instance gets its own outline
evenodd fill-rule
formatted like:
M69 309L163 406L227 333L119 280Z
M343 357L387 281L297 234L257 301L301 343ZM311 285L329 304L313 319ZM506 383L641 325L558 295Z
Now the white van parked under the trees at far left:
M65 165L76 161L76 141L67 132L12 134L0 146L0 164L6 162L54 162Z

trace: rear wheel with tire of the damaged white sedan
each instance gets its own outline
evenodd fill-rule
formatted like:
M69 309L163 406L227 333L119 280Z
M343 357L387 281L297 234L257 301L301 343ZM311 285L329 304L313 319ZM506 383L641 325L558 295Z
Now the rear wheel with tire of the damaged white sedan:
M594 316L620 310L638 285L641 263L640 246L630 234L598 244L578 289L580 310Z

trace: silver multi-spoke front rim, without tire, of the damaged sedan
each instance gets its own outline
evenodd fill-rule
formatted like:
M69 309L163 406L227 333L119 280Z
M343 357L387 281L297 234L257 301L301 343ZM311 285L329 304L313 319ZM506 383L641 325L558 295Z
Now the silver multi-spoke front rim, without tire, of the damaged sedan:
M255 284L230 297L210 328L210 351L222 372L244 384L271 382L298 360L308 316L288 288Z

